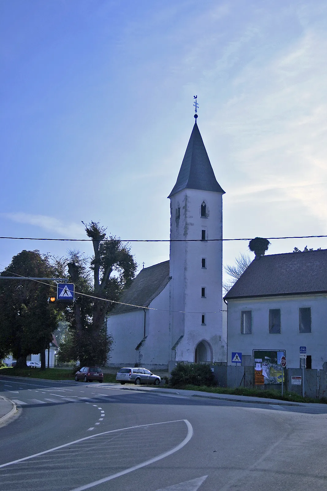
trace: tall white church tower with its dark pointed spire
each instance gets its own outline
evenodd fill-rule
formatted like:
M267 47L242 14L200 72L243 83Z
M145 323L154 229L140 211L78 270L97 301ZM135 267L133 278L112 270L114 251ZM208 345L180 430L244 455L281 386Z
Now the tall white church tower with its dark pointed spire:
M220 312L225 191L205 150L198 115L194 117L177 181L168 196L171 359L214 362L226 358Z

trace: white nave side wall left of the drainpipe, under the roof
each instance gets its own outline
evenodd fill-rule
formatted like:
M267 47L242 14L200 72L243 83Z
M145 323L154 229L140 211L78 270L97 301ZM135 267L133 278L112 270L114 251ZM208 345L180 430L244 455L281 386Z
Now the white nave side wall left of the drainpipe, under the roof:
M113 346L107 365L134 366L136 346L144 337L144 310L130 310L107 317L107 333L113 336Z

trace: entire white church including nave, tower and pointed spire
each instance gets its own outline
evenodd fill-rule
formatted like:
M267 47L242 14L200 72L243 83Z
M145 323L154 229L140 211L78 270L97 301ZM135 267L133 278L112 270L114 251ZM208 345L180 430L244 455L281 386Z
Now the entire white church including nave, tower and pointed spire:
M169 261L144 268L107 317L109 366L226 361L223 194L195 124L170 199ZM226 307L225 307L226 308Z

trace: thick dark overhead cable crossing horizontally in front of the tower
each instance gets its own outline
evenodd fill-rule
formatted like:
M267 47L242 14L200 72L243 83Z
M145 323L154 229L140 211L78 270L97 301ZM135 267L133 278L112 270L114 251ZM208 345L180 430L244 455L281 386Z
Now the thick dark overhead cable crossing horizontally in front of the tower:
M291 235L286 237L265 237L268 240L281 239L321 239L327 235ZM40 237L0 237L0 239L12 239L20 241L59 241L59 242L92 242L93 239L50 239ZM253 237L242 237L235 239L114 239L120 242L231 242L231 241L251 241ZM111 239L103 239L99 242L109 242Z

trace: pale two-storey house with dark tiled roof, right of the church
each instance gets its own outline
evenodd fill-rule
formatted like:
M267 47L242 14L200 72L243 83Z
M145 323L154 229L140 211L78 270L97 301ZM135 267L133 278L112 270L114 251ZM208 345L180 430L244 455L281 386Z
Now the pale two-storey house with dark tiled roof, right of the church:
M286 352L287 366L307 368L327 361L327 250L271 254L254 259L225 296L227 364L242 353L252 365L253 350Z

